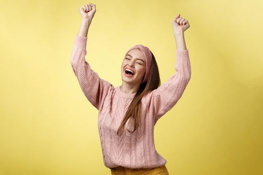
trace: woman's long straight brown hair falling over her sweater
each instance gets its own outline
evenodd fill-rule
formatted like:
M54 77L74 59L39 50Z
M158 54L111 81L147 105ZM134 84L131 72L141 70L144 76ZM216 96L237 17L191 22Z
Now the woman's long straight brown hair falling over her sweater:
M150 65L148 80L140 84L139 90L136 92L134 98L132 99L124 115L124 118L117 130L117 135L120 135L120 133L123 131L124 125L129 118L130 118L129 122L132 120L133 121L132 125L134 126L133 131L130 131L127 128L129 132L134 132L139 127L139 124L141 122L140 121L141 99L149 91L158 88L160 86L160 83L161 80L160 80L158 65L152 53L152 61Z

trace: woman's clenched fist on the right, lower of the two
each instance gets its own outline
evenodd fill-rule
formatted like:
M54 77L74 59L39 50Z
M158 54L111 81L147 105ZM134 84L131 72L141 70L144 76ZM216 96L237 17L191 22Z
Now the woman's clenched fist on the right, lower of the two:
M185 18L180 17L180 13L174 16L172 25L174 34L184 32L187 28L190 27L189 22Z

